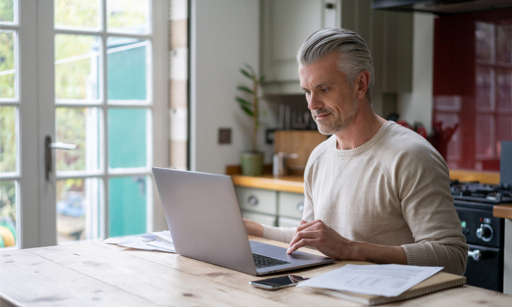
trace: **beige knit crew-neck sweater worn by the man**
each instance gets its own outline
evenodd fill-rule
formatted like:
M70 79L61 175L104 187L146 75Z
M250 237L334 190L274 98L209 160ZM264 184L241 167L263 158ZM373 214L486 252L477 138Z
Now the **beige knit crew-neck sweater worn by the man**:
M414 131L382 125L365 144L318 145L304 174L303 220L320 219L347 239L402 246L409 265L464 274L467 250L453 206L448 168ZM289 243L295 228L264 225L264 237Z

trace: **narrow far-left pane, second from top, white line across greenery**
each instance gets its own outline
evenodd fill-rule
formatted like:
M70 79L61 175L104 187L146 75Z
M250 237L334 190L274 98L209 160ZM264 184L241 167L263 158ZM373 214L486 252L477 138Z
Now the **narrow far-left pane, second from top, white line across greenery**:
M0 97L15 98L14 31L0 31Z

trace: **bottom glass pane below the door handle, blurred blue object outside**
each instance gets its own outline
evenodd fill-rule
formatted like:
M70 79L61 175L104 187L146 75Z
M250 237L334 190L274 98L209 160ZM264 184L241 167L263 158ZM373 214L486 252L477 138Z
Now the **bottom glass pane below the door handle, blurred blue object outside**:
M100 237L101 181L57 180L57 242Z

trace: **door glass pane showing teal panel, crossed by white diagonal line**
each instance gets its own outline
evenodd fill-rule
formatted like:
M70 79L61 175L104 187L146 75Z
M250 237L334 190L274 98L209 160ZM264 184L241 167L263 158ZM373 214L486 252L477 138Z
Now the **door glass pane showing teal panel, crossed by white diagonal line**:
M126 103L126 100L132 101L132 103L146 102L148 44L147 40L136 38L108 38L107 83L109 103L119 103L119 100L122 103Z

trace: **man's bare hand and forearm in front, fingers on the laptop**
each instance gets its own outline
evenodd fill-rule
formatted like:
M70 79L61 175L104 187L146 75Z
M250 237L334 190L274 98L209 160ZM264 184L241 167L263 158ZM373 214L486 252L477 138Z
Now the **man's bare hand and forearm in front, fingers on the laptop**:
M301 221L290 242L287 253L301 247L314 247L324 255L343 260L362 260L376 264L407 265L406 252L401 246L382 246L348 240L321 220Z

